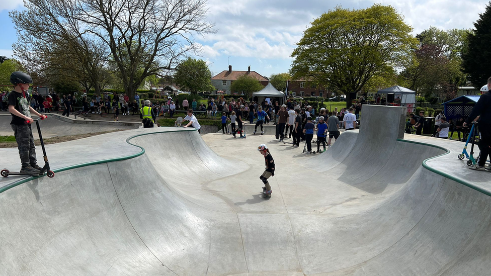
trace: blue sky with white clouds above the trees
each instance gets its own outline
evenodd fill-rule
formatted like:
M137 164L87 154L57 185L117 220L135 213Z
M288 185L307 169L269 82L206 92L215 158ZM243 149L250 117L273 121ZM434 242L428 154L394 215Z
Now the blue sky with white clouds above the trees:
M216 34L196 38L202 45L201 59L212 73L228 69L257 71L264 76L287 72L290 54L311 21L340 5L363 9L374 3L391 5L413 26L416 35L435 26L439 29L469 29L489 0L208 0L209 21ZM22 9L22 0L0 0L0 55L12 55L16 41L9 11Z

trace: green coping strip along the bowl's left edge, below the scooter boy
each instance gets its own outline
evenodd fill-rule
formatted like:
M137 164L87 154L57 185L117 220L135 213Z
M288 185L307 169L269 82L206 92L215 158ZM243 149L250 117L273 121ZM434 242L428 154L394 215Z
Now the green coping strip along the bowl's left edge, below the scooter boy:
M131 158L135 158L135 157L138 157L140 155L142 155L143 153L145 153L145 149L138 146L138 145L135 145L133 143L130 142L131 139L134 139L136 137L139 137L139 136L144 136L144 135L151 135L151 134L157 134L157 133L170 133L170 132L184 132L184 131L198 131L197 129L195 128L188 128L188 129L182 129L182 130L166 130L166 131L157 131L157 132L151 132L151 133L142 133L142 134L137 134L137 135L133 135L133 136L130 136L126 139L126 143L132 145L132 146L135 146L135 147L138 147L141 149L140 152L138 153L135 153L135 154L131 154L131 155L127 155L127 156L121 156L121 157L116 157L116 158L109 158L109 159L103 159L103 160L97 160L97 161L91 161L91 162L86 162L86 163L80 163L80 164L76 164L76 165L71 165L71 166L66 166L66 167L61 167L61 168L57 168L57 169L53 169L53 172L60 172L60 171L65 171L65 170L69 170L69 169L75 169L75 168L81 168L81 167L86 167L86 166L91 166L91 165L98 165L98 164L102 164L102 163L110 163L110 162L116 162L116 161L121 161L121 160L127 160L127 159L131 159ZM34 180L34 179L37 179L39 177L44 177L46 176L45 175L42 175L42 176L31 176L31 177L27 177L27 178L24 178L24 179L21 179L17 182L13 182L13 183L10 183L9 185L6 185L2 188L0 188L0 194L2 194L3 192L7 191L7 190L10 190L14 187L17 187L25 182L28 182L28 181L31 181L31 180ZM56 175L55 175L56 176Z

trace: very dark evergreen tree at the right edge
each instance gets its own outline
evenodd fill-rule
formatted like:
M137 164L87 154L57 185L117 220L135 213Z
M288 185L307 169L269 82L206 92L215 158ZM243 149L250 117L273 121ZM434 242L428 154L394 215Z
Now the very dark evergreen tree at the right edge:
M467 51L462 56L463 71L475 87L486 83L491 76L491 2L484 13L474 23L474 29L468 33Z

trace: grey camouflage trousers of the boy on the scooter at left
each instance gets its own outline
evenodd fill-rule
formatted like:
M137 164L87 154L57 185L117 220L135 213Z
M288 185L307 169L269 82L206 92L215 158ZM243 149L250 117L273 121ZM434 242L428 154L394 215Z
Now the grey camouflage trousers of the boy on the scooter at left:
M11 125L14 130L19 156L21 157L22 167L36 164L36 148L30 124L24 126Z

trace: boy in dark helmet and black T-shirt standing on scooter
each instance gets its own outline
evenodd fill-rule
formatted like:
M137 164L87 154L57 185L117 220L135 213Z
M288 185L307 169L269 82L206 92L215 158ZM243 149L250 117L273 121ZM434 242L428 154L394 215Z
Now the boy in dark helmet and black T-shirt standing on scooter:
M12 130L16 138L17 147L19 148L19 157L21 158L21 173L36 174L41 171L37 165L36 147L32 136L31 124L34 122L31 113L39 116L41 120L46 119L46 115L39 114L35 109L29 106L29 84L32 84L32 78L26 73L16 71L10 75L10 82L14 84L14 90L11 91L8 98L9 112L12 114ZM29 121L29 123L26 123Z

